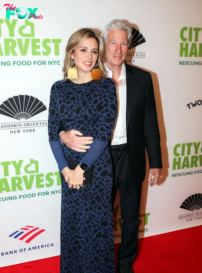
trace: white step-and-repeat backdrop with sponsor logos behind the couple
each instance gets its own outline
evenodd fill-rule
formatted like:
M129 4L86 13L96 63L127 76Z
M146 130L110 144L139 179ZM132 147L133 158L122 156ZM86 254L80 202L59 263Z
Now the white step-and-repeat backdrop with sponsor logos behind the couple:
M201 225L202 2L4 4L1 1L0 266L60 254L61 182L47 135L50 89L62 78L70 35L86 26L100 33L115 18L133 27L127 63L152 74L161 133L162 178L153 188L147 181L143 184L139 237ZM118 200L112 213L114 239L120 242Z

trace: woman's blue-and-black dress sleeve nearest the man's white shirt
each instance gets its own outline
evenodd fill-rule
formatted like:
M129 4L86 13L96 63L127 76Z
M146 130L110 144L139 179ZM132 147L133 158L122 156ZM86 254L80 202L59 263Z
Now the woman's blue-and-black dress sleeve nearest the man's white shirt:
M106 79L103 84L103 94L101 96L101 110L98 129L96 131L96 138L93 140L89 150L82 158L84 162L91 167L97 159L102 155L103 151L111 140L111 134L114 127L116 114L117 114L117 94L116 86L112 79Z

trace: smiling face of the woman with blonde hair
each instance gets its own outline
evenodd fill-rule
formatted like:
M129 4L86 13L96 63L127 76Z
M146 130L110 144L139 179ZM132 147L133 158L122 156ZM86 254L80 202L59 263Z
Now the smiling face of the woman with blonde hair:
M79 72L90 72L93 70L98 58L98 43L95 38L87 38L83 43L75 49L71 54L71 58L75 61L75 66Z

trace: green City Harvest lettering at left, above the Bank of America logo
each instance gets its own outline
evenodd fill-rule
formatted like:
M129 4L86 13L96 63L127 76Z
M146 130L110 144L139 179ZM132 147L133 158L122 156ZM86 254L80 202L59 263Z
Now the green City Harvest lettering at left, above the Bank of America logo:
M11 170L15 176L10 176ZM30 159L28 164L23 160L1 162L0 171L1 176L3 173L3 177L0 177L0 193L61 186L59 171L39 173L38 161L34 159Z

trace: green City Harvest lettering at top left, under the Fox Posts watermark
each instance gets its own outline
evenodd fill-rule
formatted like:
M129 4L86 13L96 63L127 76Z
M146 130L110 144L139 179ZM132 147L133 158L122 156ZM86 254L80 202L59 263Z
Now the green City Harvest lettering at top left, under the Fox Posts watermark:
M0 42L0 56L26 56L28 49L31 51L32 56L47 56L54 51L54 55L59 55L59 45L62 43L61 39L39 39L29 38L35 37L34 23L25 20L25 23L17 29L17 19L0 19L0 37L2 37L2 28L5 33L9 34L9 37L15 37L16 32L20 36L25 38L4 38L3 42ZM29 33L27 33L29 31Z

